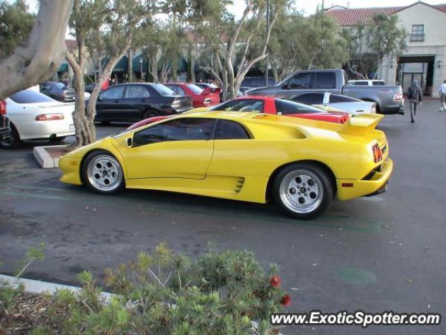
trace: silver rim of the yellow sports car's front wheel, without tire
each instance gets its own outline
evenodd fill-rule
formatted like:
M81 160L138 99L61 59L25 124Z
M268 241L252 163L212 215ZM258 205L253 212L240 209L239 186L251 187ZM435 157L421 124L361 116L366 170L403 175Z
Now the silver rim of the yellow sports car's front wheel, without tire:
M91 186L99 191L113 191L123 179L123 172L118 161L112 156L93 157L86 170Z

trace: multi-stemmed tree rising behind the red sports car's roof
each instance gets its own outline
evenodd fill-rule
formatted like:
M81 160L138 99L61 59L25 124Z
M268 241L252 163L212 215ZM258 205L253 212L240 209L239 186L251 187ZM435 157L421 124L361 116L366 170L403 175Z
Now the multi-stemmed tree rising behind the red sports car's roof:
M203 36L210 50L210 64L204 68L220 83L224 99L234 98L252 66L267 57L271 30L285 3L286 0L270 1L272 19L265 36L261 27L266 19L266 0L246 0L239 20L228 12L229 1L191 0L195 31ZM248 58L252 40L258 34L265 36L263 47Z

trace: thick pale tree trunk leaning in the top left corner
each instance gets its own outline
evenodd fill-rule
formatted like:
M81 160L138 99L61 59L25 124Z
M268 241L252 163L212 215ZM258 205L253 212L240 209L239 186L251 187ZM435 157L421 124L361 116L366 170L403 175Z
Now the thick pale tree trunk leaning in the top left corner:
M56 73L66 57L65 36L73 1L40 1L28 43L0 61L0 100Z

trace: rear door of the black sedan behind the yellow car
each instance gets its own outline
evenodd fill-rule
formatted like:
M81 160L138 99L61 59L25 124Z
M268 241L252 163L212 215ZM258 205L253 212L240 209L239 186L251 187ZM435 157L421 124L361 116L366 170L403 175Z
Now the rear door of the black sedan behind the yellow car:
M139 121L151 103L151 93L144 85L132 84L125 87L121 117L123 121Z

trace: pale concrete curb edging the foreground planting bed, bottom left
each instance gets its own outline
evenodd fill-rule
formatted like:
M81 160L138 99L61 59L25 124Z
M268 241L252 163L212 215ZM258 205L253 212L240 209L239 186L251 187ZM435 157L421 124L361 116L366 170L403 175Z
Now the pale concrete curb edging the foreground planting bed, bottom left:
M55 295L60 290L70 290L72 292L79 292L79 290L81 290L81 288L77 286L49 283L47 281L34 281L33 279L17 278L0 274L0 283L2 281L7 281L13 288L18 288L20 284L24 285L25 292L30 295L42 295L44 293ZM101 292L100 295L105 298L106 302L110 301L110 298L112 297L112 293L109 292Z

